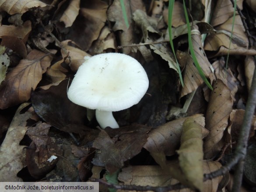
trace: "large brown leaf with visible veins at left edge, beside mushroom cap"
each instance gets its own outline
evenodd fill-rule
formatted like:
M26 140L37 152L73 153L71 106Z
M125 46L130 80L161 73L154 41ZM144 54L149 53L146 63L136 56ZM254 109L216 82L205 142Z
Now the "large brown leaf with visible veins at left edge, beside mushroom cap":
M31 89L35 89L42 79L42 73L50 65L52 57L45 53L32 50L27 59L20 63L6 75L6 79L0 88L0 108L8 108L13 105L28 101Z

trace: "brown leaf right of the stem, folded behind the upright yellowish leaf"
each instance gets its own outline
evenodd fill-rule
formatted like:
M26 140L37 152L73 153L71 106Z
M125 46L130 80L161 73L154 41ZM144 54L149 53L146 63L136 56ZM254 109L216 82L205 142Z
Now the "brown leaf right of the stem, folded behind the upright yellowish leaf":
M207 130L204 128L204 117L201 114L190 116L195 119L196 122L202 126L203 137L207 135ZM178 149L180 143L180 136L182 134L182 124L189 117L176 119L171 122L167 122L156 129L152 129L148 133L147 143L144 148L150 153L163 152L167 156L175 154L175 150Z

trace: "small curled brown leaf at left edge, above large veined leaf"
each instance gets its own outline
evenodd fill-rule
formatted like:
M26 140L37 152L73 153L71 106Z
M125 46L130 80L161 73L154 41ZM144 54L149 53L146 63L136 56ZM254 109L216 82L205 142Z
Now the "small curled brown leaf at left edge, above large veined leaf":
M2 25L0 26L0 36L18 37L25 43L28 39L28 35L31 32L31 29L31 21L26 21L20 27L14 25Z

